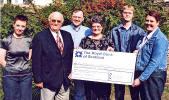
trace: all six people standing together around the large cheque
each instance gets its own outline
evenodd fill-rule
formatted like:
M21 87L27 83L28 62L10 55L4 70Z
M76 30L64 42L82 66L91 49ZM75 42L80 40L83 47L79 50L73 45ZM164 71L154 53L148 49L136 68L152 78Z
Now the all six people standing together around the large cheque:
M3 68L4 100L32 100L32 72L40 87L41 100L69 100L74 49L106 50L135 53L132 100L161 100L166 82L168 40L158 27L157 10L146 14L146 32L132 22L135 9L122 9L122 23L111 33L103 33L104 19L91 17L90 28L82 25L84 13L75 9L71 24L63 26L64 17L52 12L49 28L32 39L24 35L28 18L15 17L14 32L0 42L0 64ZM30 60L32 59L32 71ZM110 100L111 84L73 80L75 100ZM125 85L114 84L115 100L124 100Z

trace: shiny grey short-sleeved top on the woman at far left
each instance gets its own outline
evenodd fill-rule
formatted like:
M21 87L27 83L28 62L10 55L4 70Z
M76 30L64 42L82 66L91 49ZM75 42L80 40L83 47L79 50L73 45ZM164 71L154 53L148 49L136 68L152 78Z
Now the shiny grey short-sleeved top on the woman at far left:
M31 37L16 38L11 34L0 42L0 48L7 51L5 70L18 73L30 69L28 56L32 49Z

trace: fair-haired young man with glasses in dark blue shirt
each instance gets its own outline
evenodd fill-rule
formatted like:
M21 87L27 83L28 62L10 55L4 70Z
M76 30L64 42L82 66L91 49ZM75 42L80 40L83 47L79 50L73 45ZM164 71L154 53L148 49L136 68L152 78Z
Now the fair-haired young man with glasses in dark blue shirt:
M122 11L122 24L111 30L110 37L114 41L115 51L130 52L136 50L138 40L144 34L144 30L132 23L134 7L126 5ZM115 99L124 100L125 85L115 84ZM130 87L132 100L139 100L137 93Z

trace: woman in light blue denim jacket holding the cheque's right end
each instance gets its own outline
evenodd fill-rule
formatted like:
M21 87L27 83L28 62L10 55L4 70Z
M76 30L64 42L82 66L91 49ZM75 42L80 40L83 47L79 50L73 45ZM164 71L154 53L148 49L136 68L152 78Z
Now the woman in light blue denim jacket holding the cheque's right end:
M137 51L133 87L140 92L141 100L161 100L166 82L168 40L159 26L160 13L151 10L146 14L147 32Z

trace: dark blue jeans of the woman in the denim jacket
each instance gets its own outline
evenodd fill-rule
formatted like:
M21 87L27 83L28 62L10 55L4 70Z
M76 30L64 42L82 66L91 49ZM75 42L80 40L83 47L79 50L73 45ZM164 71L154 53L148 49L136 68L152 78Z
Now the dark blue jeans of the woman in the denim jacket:
M146 81L141 83L143 86L141 100L161 100L166 75L166 71L153 72Z

